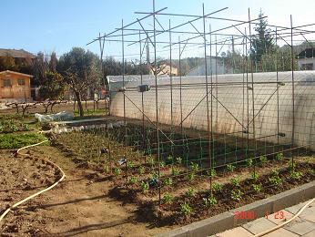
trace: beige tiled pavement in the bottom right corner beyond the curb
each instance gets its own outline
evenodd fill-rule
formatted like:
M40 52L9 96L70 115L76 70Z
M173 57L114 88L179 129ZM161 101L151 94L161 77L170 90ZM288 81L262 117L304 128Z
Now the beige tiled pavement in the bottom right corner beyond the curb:
M282 211L269 213L265 217L259 218L255 221L248 222L237 228L231 229L226 232L217 233L212 237L248 237L264 232L270 228L289 220L301 207L308 201L301 202L298 205L286 208ZM315 201L300 213L300 216L293 222L283 226L275 232L269 232L264 236L275 237L315 237Z

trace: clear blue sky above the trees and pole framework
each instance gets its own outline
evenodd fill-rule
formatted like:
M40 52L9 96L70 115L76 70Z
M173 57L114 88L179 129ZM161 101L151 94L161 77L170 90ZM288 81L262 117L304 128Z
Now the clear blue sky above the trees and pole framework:
M269 16L269 24L290 26L290 15L293 15L295 26L315 23L314 0L156 0L156 8L168 6L165 11L168 13L200 15L202 3L205 4L206 13L229 6L228 10L216 15L219 17L246 20L248 8L252 17L257 16L261 8ZM97 43L89 46L86 43L98 36L99 32L108 33L121 26L122 19L127 24L142 16L135 15L135 11L148 12L152 9L151 0L1 0L0 5L1 48L24 48L32 53L43 51L46 54L56 51L58 56L73 46L81 46L98 54ZM167 20L161 19L162 24ZM183 20L176 18L173 24L180 22ZM149 22L144 24L150 27ZM212 24L213 28L227 26L218 22ZM138 52L135 46L125 50L132 54ZM105 54L120 55L121 45L108 43ZM185 54L187 57L193 55L191 51Z

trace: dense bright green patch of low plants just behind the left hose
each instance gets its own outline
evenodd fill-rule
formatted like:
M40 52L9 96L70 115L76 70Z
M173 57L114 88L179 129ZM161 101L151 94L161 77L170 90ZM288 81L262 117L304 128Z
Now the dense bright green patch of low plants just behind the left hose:
M44 135L34 132L0 134L0 149L19 149L45 139Z

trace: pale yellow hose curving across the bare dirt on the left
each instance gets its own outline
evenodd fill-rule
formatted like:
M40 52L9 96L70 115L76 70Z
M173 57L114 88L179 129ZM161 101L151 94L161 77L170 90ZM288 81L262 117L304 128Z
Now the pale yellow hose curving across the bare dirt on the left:
M20 148L20 149L17 149L16 153L19 153L22 149L28 149L28 148L32 148L32 147L35 147L35 146L38 146L42 143L45 143L46 141L48 141L48 139L44 140L44 141L41 141L39 143L36 143L36 144L33 144L33 145L29 145L29 146L26 146L26 147L23 147L23 148ZM49 191L51 189L53 189L60 181L64 180L65 177L66 177L66 174L63 170L61 170L61 168L59 166L57 166L55 163L53 163L52 161L50 160L46 160L44 158L40 158L40 160L45 160L47 163L51 164L52 166L56 167L61 173L62 173L62 177L57 180L54 184L52 184L51 186L49 186L48 188L46 188L45 190L42 190L42 191L38 191L36 193L34 193L33 195L25 198L24 200L22 201L18 201L16 202L13 206L11 206L10 208L6 209L5 212L0 216L0 222L5 218L5 215L9 212L9 211L12 211L14 210L17 206L21 205L22 203L24 203L25 201L28 201L30 199L33 199L35 198L36 196L38 196L39 194L45 192L45 191ZM1 226L1 225L0 225Z

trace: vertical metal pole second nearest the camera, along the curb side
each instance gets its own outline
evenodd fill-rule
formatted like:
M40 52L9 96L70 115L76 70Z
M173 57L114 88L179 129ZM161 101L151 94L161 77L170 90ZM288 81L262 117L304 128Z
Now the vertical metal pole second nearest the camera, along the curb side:
M203 15L203 38L204 38L204 53L205 53L205 79L206 79L206 103L207 103L207 131L208 131L208 156L209 156L209 167L212 169L211 160L211 134L210 134L210 118L208 111L208 65L207 65L207 40L206 40L206 17L205 17L205 5L202 4L202 15ZM212 95L211 95L212 96ZM212 175L211 175L212 176ZM210 176L210 194L212 195L212 177Z

